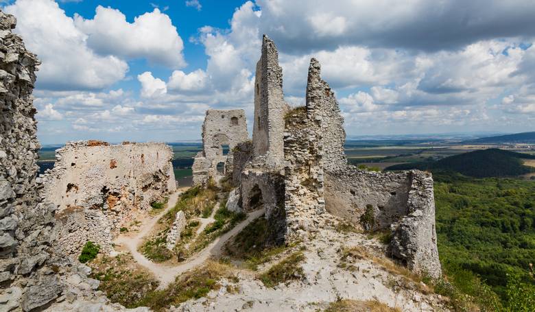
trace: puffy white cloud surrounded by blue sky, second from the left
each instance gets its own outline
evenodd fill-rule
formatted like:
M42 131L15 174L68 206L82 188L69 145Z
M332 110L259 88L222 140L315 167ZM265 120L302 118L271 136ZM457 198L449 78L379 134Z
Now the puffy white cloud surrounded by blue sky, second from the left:
M97 53L126 59L146 58L174 68L186 65L182 38L169 16L158 8L128 23L121 11L99 5L93 19L75 14L74 23L87 34L88 47Z

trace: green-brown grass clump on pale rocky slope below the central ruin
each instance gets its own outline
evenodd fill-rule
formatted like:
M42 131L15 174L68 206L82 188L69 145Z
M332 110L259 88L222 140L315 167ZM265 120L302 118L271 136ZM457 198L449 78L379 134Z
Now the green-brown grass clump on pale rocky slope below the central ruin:
M267 272L260 274L259 279L265 287L274 287L280 283L297 280L303 275L301 263L305 261L302 252L294 252L286 259L270 267Z

